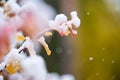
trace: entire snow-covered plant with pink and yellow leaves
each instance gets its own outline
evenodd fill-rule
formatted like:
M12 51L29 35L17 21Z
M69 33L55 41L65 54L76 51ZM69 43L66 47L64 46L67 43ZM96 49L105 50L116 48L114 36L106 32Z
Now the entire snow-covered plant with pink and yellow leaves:
M75 36L77 31L74 29L80 26L77 12L71 12L71 20L67 20L64 14L58 14L55 20L49 20L54 14L53 9L41 2L49 11L47 14L47 10L41 8L36 1L38 0L0 2L0 80L4 76L8 80L75 80L72 75L48 73L44 59L36 54L34 42L38 41L47 55L51 55L45 36L52 36L53 30L61 36L70 33ZM16 48L17 44L20 47Z

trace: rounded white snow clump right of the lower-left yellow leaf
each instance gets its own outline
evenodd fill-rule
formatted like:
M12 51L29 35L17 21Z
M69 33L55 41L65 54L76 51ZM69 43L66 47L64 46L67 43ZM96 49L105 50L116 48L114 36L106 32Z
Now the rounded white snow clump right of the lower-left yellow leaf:
M46 80L47 70L45 62L41 56L33 56L26 58L22 63L23 72L26 80L33 78L34 80Z

